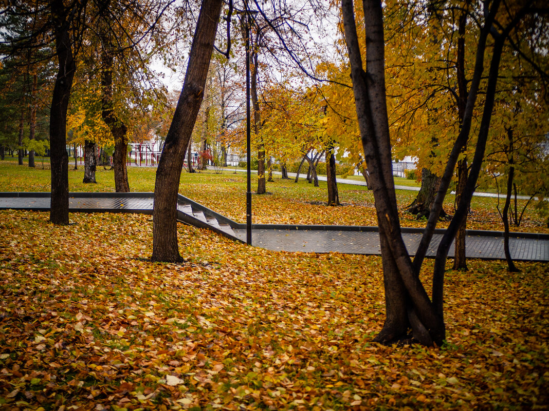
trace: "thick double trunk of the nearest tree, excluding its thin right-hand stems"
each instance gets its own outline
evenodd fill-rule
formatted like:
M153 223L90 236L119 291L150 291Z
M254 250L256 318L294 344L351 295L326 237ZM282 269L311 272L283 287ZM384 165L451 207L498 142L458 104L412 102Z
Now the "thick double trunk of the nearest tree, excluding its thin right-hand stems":
M386 343L407 338L409 323L412 335L421 344L441 344L445 338L444 318L434 311L408 256L400 230L385 100L382 7L376 0L364 0L363 5L365 65L358 45L353 2L341 2L356 113L376 200L382 250L387 317L377 340Z

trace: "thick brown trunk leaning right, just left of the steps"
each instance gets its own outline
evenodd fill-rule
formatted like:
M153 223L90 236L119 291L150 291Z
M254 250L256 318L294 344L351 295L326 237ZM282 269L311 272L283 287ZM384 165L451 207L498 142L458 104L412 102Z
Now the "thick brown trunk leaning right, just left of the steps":
M177 191L185 151L204 97L221 5L222 0L204 0L200 7L183 89L156 170L153 261L181 260L177 243Z

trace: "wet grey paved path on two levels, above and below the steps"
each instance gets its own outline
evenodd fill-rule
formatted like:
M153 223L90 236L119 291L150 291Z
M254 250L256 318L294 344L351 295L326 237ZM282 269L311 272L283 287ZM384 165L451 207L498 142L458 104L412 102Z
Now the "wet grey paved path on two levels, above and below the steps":
M0 193L0 209L49 210L49 193ZM152 193L71 193L71 212L122 212L151 214ZM206 210L208 211L211 210ZM213 213L213 212L212 212ZM230 221L230 220L229 220ZM245 241L244 224L230 222L235 236ZM421 230L404 229L403 237L410 255L414 255ZM442 235L436 233L429 246L434 256ZM281 226L254 225L252 244L256 247L287 252L380 254L377 227L356 226ZM468 258L505 259L503 237L497 231L468 231ZM549 235L512 233L509 240L512 258L525 261L549 261ZM453 256L453 247L450 256Z

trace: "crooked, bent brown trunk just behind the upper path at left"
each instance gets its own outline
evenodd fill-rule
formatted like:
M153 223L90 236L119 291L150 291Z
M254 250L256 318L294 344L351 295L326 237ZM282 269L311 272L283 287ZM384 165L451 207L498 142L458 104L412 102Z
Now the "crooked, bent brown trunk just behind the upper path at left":
M110 39L102 33L103 50L101 52L101 87L102 87L102 111L103 121L110 129L114 138L114 187L118 192L130 192L128 182L128 170L126 160L128 156L127 127L114 112L113 102L113 62Z

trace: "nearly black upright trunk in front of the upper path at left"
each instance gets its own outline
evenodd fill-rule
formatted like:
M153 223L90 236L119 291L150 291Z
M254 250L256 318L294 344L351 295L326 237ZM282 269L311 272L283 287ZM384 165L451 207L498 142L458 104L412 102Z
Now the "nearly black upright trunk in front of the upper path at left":
M66 118L76 63L72 56L69 22L63 0L53 0L55 54L59 68L52 93L49 117L49 150L52 175L52 198L49 220L53 224L69 224L69 155L66 150Z

